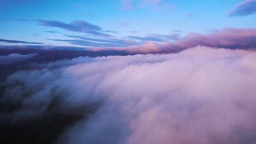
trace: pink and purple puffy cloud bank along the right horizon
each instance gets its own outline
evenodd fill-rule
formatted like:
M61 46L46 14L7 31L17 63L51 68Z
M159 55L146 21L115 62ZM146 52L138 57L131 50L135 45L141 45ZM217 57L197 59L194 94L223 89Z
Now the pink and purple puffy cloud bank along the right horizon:
M175 35L174 35L175 36ZM177 35L178 36L178 35ZM134 37L137 39L147 39L146 37ZM159 37L158 37L159 38ZM175 37L174 37L175 38ZM178 37L177 37L178 38ZM150 39L150 38L149 38ZM149 40L148 39L148 40ZM151 40L154 40L153 38ZM161 41L155 39L155 41ZM163 43L148 42L144 45L132 45L128 47L105 48L112 50L124 50L130 53L177 53L184 49L197 45L229 48L229 49L256 49L256 29L255 28L224 28L215 30L210 34L190 33L187 36L179 37L174 42L165 41ZM101 51L104 48L95 47L91 50Z

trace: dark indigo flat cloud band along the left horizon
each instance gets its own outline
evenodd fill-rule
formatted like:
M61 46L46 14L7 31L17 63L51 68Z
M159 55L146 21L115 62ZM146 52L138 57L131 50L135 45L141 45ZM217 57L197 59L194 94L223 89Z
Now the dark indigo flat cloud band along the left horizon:
M9 54L34 54L37 53L31 62L34 63L48 63L62 59L73 59L80 56L108 56L108 55L129 55L127 51L117 50L102 50L102 51L91 51L85 47L74 47L74 46L52 46L52 45L0 45L0 55ZM26 64L22 64L25 66ZM19 68L17 66L15 68ZM15 68L12 68L14 70ZM1 76L3 74L1 73Z

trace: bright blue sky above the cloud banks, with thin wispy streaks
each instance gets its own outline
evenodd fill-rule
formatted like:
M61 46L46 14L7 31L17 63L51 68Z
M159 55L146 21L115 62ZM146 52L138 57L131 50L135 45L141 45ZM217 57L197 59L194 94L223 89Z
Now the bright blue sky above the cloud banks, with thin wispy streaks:
M88 38L98 39L96 40L97 44L94 43L93 46L101 46L99 42L100 44L104 43L99 39L118 40L117 45L102 46L128 46L140 45L151 40L160 43L175 41L177 36L185 36L189 33L207 34L212 30L226 27L255 28L255 4L252 2L250 5L253 9L250 14L228 16L230 10L244 1L0 0L0 39L46 45L90 47L91 44L84 43L84 37L86 37L87 40ZM255 0L251 1L255 2ZM40 23L39 20L47 21L47 26L45 23ZM101 29L97 30L97 33L107 34L111 37L92 34L91 30L90 32L81 32L63 27L53 27L54 24L51 23L58 21L68 27L73 27L75 20L91 24L89 29L92 26L100 27ZM50 24L51 26L49 26ZM81 25L81 27L83 29L84 26ZM80 36L80 41L70 41L77 40L77 37L74 36ZM83 37L82 41L81 36ZM92 41L90 40L90 42ZM93 40L93 42L95 41ZM0 42L0 45L23 44Z

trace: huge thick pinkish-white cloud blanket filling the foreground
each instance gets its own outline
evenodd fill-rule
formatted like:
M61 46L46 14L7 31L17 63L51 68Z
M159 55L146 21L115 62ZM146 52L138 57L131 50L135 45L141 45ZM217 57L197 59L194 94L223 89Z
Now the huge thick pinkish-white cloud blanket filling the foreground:
M1 118L100 103L59 144L255 144L255 63L255 51L205 46L45 63L9 76L4 96L21 106Z

